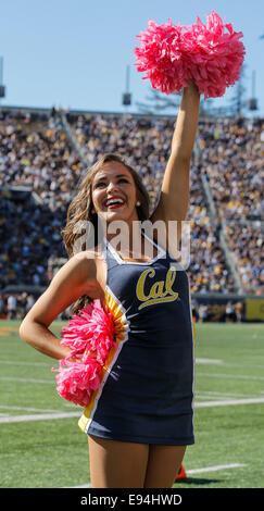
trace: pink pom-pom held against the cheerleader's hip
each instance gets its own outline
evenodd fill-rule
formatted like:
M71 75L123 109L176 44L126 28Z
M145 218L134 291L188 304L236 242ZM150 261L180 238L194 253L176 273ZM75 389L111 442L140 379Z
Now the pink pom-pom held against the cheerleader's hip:
M59 369L52 369L58 372L56 390L64 399L87 407L100 386L110 350L116 346L113 316L96 299L72 316L61 336L61 344L71 351Z

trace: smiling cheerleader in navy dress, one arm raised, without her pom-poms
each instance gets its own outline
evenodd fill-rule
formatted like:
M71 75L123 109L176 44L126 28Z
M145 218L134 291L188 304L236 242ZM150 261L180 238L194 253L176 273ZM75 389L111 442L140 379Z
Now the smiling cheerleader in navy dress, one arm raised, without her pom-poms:
M62 359L68 349L49 325L71 304L76 313L100 298L118 322L115 356L79 420L88 435L92 487L169 488L186 447L194 441L189 281L169 254L168 240L158 244L140 228L140 222L162 221L167 226L186 219L199 100L190 83L184 89L160 199L151 216L139 175L118 155L104 154L87 172L63 230L70 260L20 328L21 337L36 349ZM79 237L74 227L79 221L95 227L92 257L83 246L74 252ZM126 242L120 249L111 244L114 221L126 226ZM98 232L100 222L108 227L103 237Z

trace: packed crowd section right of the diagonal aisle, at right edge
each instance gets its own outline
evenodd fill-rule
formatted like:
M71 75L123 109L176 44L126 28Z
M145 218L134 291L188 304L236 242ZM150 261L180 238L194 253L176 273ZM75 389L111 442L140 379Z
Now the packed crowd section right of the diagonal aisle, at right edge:
M225 237L242 287L264 292L263 272L263 120L200 122L200 164L217 212L226 222Z

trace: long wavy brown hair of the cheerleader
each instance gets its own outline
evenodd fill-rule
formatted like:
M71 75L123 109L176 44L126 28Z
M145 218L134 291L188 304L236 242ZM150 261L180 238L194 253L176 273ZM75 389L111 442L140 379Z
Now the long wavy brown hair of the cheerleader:
M92 198L91 198L91 184L95 175L99 170L102 169L104 163L116 161L125 165L125 167L130 172L136 188L138 192L138 199L140 205L137 207L138 219L140 222L149 219L150 215L150 198L146 186L140 177L140 175L126 163L124 158L120 157L116 153L105 153L103 154L88 171L85 175L85 178L80 182L77 188L77 194L72 200L67 209L67 222L65 227L61 230L62 239L71 259L74 256L74 246L76 247L77 239L81 236L81 233L76 232L76 224L81 221L89 221L93 225L95 233L95 246L98 244L98 215L92 209ZM79 224L78 224L79 225ZM84 227L85 228L85 227ZM79 251L87 250L89 247L84 244L79 246ZM92 298L88 295L84 295L78 298L78 300L72 306L72 314L77 314L80 309L86 307L88 303L92 302Z

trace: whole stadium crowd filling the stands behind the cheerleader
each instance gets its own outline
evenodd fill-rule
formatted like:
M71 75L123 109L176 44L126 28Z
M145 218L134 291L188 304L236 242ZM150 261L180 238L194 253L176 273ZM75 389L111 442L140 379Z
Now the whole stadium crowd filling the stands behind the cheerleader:
M61 229L68 202L87 166L102 152L126 157L143 178L151 209L158 200L175 119L68 113L67 121L86 153L87 165L72 149L60 111L0 112L0 292L10 285L48 286L53 259L66 258ZM187 217L191 226L191 294L236 290L219 244L222 219L244 289L263 294L260 179L264 123L201 120L197 140ZM212 191L215 220L210 216L201 173ZM13 200L7 188L14 186L29 186L42 203ZM2 292L0 315L14 315L15 300L12 304L10 296ZM32 294L13 297L18 303L16 315L34 299Z

